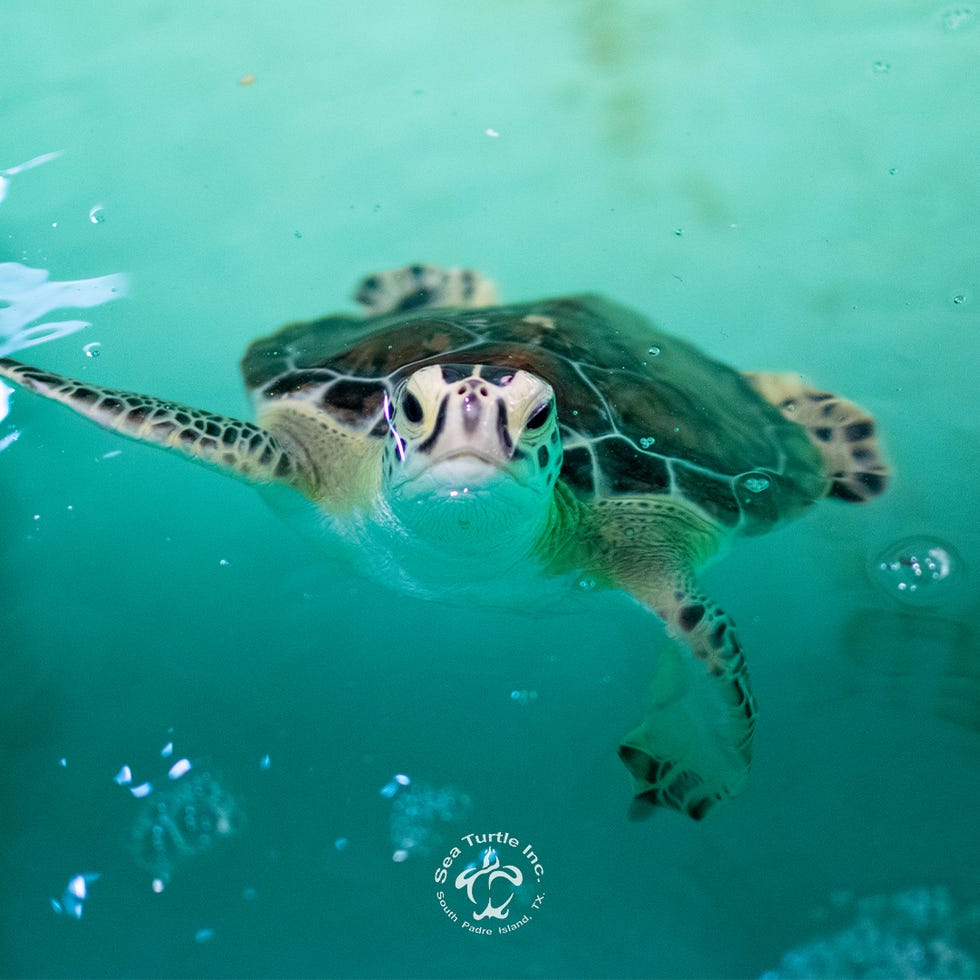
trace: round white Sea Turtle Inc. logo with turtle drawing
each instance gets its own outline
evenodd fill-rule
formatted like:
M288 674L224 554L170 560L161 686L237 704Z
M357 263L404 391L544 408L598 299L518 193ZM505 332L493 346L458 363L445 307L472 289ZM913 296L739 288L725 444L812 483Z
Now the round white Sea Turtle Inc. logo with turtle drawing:
M435 870L446 918L480 936L527 925L544 901L544 866L534 846L505 832L464 834Z

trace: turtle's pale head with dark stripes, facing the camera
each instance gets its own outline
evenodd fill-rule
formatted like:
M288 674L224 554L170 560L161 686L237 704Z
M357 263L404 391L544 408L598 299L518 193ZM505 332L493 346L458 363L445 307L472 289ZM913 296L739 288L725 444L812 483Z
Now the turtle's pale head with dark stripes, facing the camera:
M385 406L385 493L429 538L540 529L561 469L555 393L527 371L433 364ZM449 543L447 541L447 543Z

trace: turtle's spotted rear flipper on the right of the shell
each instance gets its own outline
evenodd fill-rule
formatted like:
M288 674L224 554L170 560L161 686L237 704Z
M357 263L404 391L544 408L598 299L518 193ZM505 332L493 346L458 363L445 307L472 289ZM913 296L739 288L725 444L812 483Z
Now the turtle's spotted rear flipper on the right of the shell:
M791 422L802 425L824 458L828 497L860 504L885 492L888 467L874 419L854 402L811 388L798 374L757 372L746 381Z

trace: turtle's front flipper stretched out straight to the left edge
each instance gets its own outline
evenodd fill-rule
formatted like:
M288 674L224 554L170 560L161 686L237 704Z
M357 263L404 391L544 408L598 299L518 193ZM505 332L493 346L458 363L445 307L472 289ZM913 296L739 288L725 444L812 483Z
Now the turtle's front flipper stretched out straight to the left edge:
M285 483L312 496L312 469L298 447L252 422L150 395L102 388L11 358L0 358L0 377L132 439L174 449L252 483Z

